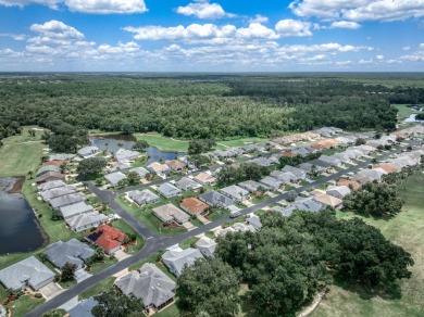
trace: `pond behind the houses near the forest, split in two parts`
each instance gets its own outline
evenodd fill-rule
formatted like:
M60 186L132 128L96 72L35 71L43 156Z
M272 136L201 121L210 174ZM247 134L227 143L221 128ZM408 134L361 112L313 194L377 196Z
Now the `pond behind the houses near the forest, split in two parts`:
M136 141L136 137L132 135L110 135L90 137L91 145L95 145L100 150L105 150L110 153L115 153L120 149L130 150ZM176 152L164 152L153 147L147 148L146 153L149 156L147 164L159 161L174 160L178 155L186 154Z

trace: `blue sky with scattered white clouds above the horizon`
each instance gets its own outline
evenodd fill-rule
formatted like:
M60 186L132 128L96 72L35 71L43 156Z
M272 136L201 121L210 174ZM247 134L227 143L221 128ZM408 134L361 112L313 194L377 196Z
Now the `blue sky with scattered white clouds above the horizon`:
M424 71L424 0L0 0L0 72Z

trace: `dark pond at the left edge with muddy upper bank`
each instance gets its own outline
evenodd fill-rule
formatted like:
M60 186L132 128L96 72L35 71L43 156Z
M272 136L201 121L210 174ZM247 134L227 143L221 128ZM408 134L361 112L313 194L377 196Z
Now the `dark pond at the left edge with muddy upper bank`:
M45 238L25 196L11 192L17 178L0 178L0 255L30 252L41 248Z

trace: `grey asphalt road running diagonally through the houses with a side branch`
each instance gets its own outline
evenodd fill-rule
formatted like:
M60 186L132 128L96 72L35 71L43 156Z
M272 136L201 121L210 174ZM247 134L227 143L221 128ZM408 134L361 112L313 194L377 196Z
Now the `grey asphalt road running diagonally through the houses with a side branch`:
M396 150L390 150L388 152L384 152L383 154L375 156L375 158L379 160L379 161L384 160L384 158L386 158L395 153L398 153L398 152L401 152L402 150L406 150L409 145L419 144L421 142L422 142L421 140L420 141L419 140L410 141L410 142L408 142L407 145L402 145L402 147L397 148ZM342 170L335 173L331 176L327 176L325 178L322 178L322 179L315 180L313 182L310 182L308 185L304 185L302 187L299 187L295 191L297 193L300 193L300 192L305 191L308 189L323 185L329 180L340 178L341 176L344 176L350 172L354 172L361 167L367 166L371 163L371 161L372 161L372 158L369 158L365 162L361 162L354 166L342 169ZM83 282L76 284L75 287L64 291L63 293L59 294L58 296L55 296L55 297L51 299L50 301L43 303L42 305L38 306L37 308L35 308L34 310L32 310L30 313L28 313L26 315L28 317L39 317L43 313L61 306L62 304L66 303L67 301L72 300L73 297L75 297L78 294L80 294L82 292L84 292L85 290L92 288L93 286L101 282L102 280L113 276L114 274L116 274L116 272L119 272L119 271L121 271L121 270L123 270L123 269L125 269L134 264L136 264L137 262L152 255L153 253L155 253L160 250L166 249L166 248L174 245L176 243L179 243L179 242L182 242L190 237L198 236L200 233L209 231L209 230L211 230L217 226L221 226L221 225L230 220L229 217L223 217L223 218L220 218L213 223L210 223L208 225L204 225L204 226L198 227L194 230L190 230L188 232L185 232L178 237L174 237L174 238L158 237L158 236L153 234L146 226L144 226L137 218L135 218L133 215L130 215L129 213L127 213L126 211L121 208L121 206L119 206L116 203L114 203L114 201L110 201L112 198L115 196L115 194L113 192L101 191L101 190L97 189L95 186L92 186L92 188L90 187L90 189L97 195L99 195L100 199L110 203L111 207L116 212L116 214L119 214L134 229L136 229L140 234L142 234L146 238L146 245L137 254L135 254L130 257L127 257L126 259L119 262L119 263L105 268L104 270L93 275L92 277L84 280ZM289 195L289 193L285 192L285 193L282 193L277 196L275 196L275 198L269 199L269 200L263 201L259 204L247 207L247 208L241 211L241 215L245 216L245 215L250 214L252 212L259 211L259 210L261 210L265 206L269 206L271 204L274 204L280 200L287 199L288 195ZM117 208L115 210L115 207L117 207Z

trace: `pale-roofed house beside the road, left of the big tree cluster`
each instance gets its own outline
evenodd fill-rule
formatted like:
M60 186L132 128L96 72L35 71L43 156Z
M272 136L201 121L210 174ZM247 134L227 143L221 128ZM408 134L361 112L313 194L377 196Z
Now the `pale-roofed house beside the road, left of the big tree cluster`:
M191 266L198 258L203 258L199 250L187 248L183 251L166 251L162 255L162 261L166 267L179 277L186 266Z

